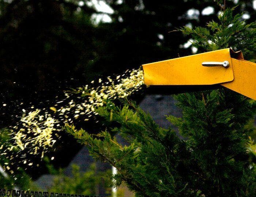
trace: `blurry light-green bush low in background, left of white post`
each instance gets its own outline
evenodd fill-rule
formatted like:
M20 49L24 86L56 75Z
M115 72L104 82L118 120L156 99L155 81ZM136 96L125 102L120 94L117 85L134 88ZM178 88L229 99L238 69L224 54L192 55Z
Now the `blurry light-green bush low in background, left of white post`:
M53 184L47 189L54 193L95 195L99 183L102 182L101 179L110 175L110 171L97 172L95 163L91 164L86 172L80 171L80 167L73 164L72 177L64 175L64 171L60 170L59 174L53 178ZM111 188L108 187L110 183L107 179L104 183L103 187L106 189L106 193L110 193Z

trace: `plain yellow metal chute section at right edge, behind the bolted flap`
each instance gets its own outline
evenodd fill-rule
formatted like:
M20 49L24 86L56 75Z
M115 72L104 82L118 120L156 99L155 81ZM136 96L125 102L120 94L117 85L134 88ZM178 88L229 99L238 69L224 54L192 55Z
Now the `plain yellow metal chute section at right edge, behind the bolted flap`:
M221 85L256 100L256 64L234 58L231 61L234 80Z

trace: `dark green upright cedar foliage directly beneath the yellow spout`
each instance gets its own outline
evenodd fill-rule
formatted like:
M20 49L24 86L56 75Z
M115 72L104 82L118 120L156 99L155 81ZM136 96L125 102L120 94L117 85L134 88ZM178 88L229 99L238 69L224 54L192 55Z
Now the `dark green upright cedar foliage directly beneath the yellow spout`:
M244 126L253 118L255 107L244 96L225 89L181 94L176 99L182 118L167 119L188 137L192 157L209 183L201 185L201 190L214 189L218 196L245 195L244 178L253 178L253 170L246 154L251 130Z

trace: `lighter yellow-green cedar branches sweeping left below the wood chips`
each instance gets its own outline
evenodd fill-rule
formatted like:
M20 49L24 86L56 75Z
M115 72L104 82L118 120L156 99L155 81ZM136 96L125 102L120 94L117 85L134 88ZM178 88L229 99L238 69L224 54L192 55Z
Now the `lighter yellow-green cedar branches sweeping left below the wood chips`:
M128 106L119 108L114 103L108 104L99 108L98 113L107 121L120 125L113 127L111 132L90 135L74 126L66 125L66 129L89 148L94 158L117 168L118 174L112 177L114 185L125 182L141 196L196 193L177 172L187 166L185 158L189 155L184 141L179 140L173 130L159 128L149 114L137 107L134 112ZM111 136L110 133L117 130L127 138L128 146L119 144L116 137Z

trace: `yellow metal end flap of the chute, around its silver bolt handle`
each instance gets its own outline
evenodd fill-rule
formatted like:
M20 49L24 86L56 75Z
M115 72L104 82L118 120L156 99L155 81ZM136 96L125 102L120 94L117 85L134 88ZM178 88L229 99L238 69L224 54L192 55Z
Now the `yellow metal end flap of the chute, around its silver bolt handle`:
M229 61L230 66L204 67L205 61ZM146 85L211 85L234 79L230 49L144 64Z

